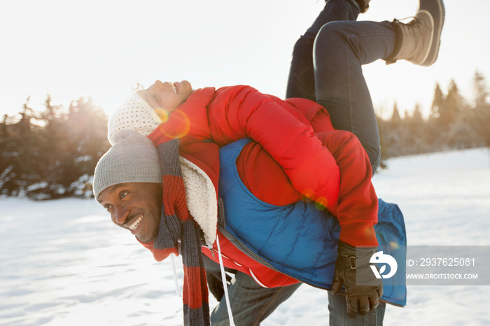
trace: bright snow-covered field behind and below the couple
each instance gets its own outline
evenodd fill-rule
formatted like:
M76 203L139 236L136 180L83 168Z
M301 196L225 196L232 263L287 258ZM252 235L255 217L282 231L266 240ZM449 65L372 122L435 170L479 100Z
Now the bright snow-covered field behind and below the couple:
M409 245L490 245L489 150L395 158L373 183L400 206ZM154 262L95 201L0 199L0 223L0 325L181 325L170 262ZM489 296L409 286L385 325L490 325ZM302 285L262 325L328 325L327 304Z

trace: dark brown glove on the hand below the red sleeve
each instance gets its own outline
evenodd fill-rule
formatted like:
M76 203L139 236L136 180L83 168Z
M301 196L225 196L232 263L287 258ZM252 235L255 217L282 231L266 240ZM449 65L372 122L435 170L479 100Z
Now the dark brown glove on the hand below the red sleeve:
M379 298L383 295L383 282L376 278L369 264L371 256L376 253L376 247L354 248L339 241L335 276L333 278L332 295L339 292L345 285L347 313L356 317L357 313L365 315L375 309ZM357 253L357 255L356 255ZM356 285L356 271L358 284Z

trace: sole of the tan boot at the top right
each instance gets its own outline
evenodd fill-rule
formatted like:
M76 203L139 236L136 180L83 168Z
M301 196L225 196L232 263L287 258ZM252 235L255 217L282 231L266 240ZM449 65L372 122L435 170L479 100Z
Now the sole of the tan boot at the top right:
M434 31L433 31L433 40L430 45L430 49L428 51L428 55L426 59L423 60L420 66L430 66L432 65L439 56L439 48L440 48L440 38L442 33L442 27L444 26L444 17L446 15L444 9L444 3L442 0L420 0L420 10L426 10L433 17L434 20Z

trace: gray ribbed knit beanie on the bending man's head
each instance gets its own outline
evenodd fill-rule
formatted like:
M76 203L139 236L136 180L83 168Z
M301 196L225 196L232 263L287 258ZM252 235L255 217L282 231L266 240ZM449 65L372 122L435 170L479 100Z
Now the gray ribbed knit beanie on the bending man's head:
M127 129L115 134L114 141L114 146L95 166L93 191L96 200L111 185L162 182L158 151L150 139Z

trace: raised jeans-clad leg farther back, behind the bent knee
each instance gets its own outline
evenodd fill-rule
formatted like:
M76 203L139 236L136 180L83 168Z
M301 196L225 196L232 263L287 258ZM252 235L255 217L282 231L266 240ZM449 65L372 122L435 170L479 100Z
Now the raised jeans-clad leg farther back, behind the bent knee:
M329 0L314 23L295 43L289 70L286 98L316 100L313 44L316 34L327 22L356 20L360 10L354 0Z

